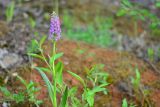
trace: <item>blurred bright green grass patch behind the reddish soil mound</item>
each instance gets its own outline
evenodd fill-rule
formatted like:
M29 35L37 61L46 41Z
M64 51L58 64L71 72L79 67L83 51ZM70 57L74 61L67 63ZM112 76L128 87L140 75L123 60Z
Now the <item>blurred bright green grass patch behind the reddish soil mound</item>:
M90 44L108 47L114 44L110 29L113 19L97 16L94 21L85 25L75 24L75 17L67 12L63 15L63 35L72 40L84 41Z

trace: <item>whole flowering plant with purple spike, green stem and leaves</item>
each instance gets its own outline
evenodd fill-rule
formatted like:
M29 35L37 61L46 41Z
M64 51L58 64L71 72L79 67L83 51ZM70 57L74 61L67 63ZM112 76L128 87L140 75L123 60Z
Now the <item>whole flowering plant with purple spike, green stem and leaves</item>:
M60 20L58 15L53 12L51 15L48 36L48 39L51 40L53 44L52 55L48 55L48 57L45 57L44 50L42 49L42 45L46 40L46 36L42 37L40 41L35 40L35 43L37 44L38 50L40 51L41 55L35 53L28 53L32 57L41 59L47 65L47 67L45 68L38 66L33 66L33 68L36 69L42 76L47 86L49 97L53 107L57 107L58 105L60 107L65 107L68 96L68 88L64 86L62 79L63 64L61 62L55 64L55 60L63 55L63 53L56 53L56 42L60 39L60 37ZM48 72L52 75L52 80L49 80L45 72ZM57 92L63 94L60 104L57 104Z

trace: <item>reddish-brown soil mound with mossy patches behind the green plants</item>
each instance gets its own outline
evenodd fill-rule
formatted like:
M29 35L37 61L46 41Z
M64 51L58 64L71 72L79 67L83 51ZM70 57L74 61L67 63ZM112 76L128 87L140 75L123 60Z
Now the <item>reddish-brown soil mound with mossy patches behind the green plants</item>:
M45 43L44 49L46 55L51 52L51 45L49 42ZM80 53L79 50L84 50L84 53ZM127 92L118 87L119 83L125 82L128 84L127 89L133 92L130 77L135 76L135 67L138 67L141 72L141 84L152 90L149 95L149 101L154 103L155 106L152 105L151 107L160 107L160 88L158 88L157 85L160 81L160 78L158 78L159 75L155 74L154 71L148 68L147 64L141 60L138 60L133 55L68 40L61 40L57 43L57 52L64 53L64 56L60 59L60 61L62 61L65 66L64 81L69 85L77 85L81 87L79 81L70 76L66 72L67 70L75 72L85 79L86 67L91 68L95 64L105 65L104 71L109 73L110 76L108 81L111 85L107 87L109 90L108 95L102 95L100 93L96 96L95 107L121 107L123 98L127 98L128 101L132 100L133 102L137 102L138 107L140 107L143 101L138 99L142 97L141 95L131 95L130 91ZM45 66L44 63L40 61L35 61L35 64ZM19 74L26 79L32 79L35 82L40 83L40 86L44 85L43 80L35 70L17 70L17 72L19 72ZM46 102L48 101L47 91L44 86L42 87L39 98L46 99ZM47 107L47 105L50 107L50 104L48 103L45 103L44 105L45 106L43 107Z

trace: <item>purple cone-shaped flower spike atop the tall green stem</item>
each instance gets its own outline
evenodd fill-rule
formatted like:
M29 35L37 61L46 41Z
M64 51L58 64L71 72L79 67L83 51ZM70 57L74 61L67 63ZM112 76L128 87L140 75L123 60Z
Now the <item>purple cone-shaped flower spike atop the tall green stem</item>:
M48 39L54 39L55 41L61 38L61 27L58 15L53 12L50 19L50 29Z

